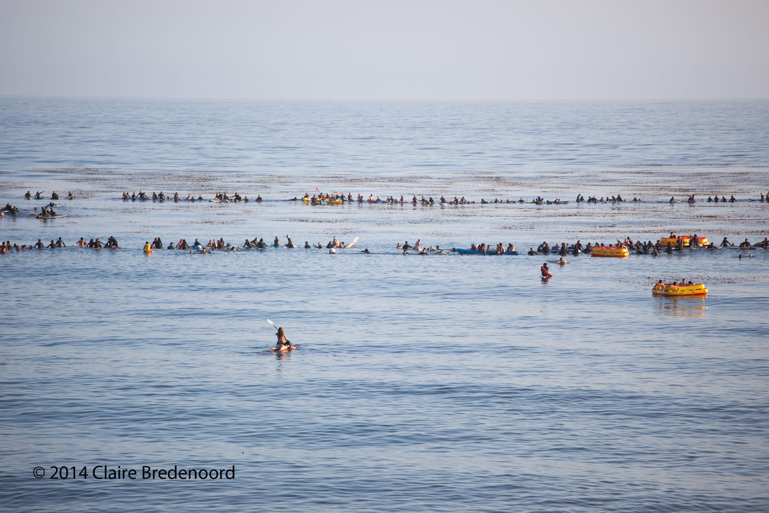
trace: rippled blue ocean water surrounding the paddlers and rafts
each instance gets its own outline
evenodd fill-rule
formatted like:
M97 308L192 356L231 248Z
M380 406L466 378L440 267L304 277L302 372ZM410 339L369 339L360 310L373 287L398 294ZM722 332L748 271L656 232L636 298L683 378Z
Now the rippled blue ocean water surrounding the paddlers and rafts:
M761 240L769 102L0 106L0 202L27 212L47 203L27 190L75 192L65 218L0 218L4 241L69 246L0 255L8 511L769 511L769 250L563 267L523 254L671 230ZM316 185L572 202L285 201ZM265 201L120 199L138 188ZM644 202L577 205L577 192ZM701 202L716 192L740 201ZM681 194L700 201L667 202ZM358 242L141 253L158 236L286 234ZM122 249L73 247L109 235ZM395 248L417 239L522 254ZM654 297L658 278L709 293ZM267 318L299 348L268 351ZM88 478L51 479L52 465ZM98 480L97 465L235 465L235 478Z

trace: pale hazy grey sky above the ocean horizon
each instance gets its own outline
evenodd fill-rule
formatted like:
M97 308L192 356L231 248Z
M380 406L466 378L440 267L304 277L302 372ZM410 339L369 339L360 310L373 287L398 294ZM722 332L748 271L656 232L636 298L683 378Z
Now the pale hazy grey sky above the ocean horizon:
M0 0L0 95L766 98L769 0Z

